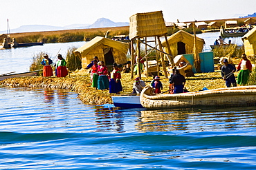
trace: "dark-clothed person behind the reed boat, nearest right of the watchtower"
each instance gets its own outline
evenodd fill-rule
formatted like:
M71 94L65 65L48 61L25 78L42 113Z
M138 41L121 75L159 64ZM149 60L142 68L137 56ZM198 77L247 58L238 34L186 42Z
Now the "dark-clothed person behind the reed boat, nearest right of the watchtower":
M185 76L181 75L179 70L174 70L174 75L172 76L170 83L174 87L174 94L183 93Z

